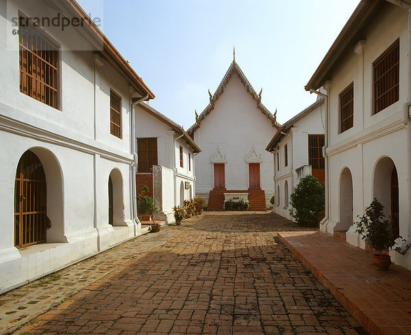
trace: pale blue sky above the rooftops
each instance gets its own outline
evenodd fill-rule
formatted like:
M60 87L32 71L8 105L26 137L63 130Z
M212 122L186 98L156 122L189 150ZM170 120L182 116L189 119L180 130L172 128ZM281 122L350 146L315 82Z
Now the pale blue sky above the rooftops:
M304 85L359 0L77 0L142 77L157 109L188 129L236 62L283 124L314 103ZM103 10L101 10L103 5Z

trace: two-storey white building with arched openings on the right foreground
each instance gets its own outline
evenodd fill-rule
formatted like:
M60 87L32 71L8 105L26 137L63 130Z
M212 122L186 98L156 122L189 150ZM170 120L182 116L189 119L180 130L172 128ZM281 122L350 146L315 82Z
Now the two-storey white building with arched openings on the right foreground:
M362 0L306 85L327 90L321 230L363 248L353 222L373 198L395 235L411 235L410 10L407 1ZM390 255L411 268L409 250Z

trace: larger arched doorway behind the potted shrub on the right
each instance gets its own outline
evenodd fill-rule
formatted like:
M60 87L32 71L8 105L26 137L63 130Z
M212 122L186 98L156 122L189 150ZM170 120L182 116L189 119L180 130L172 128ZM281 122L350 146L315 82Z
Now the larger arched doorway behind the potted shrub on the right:
M395 237L399 237L399 183L397 168L390 157L379 159L373 178L373 198L384 206L386 219L391 217Z

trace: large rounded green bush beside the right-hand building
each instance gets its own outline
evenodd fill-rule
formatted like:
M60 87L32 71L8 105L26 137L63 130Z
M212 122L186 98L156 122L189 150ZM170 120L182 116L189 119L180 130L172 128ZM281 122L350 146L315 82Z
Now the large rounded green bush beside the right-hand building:
M291 217L302 226L316 226L325 211L324 184L308 174L300 179L290 196Z

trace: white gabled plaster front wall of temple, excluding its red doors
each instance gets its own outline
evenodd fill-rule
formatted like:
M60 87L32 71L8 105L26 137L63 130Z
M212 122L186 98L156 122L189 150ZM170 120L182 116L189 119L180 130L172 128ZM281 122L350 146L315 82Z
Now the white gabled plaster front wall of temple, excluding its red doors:
M197 194L208 198L208 192L214 187L210 157L218 147L227 157L226 188L247 189L249 181L245 157L254 146L256 152L262 155L261 187L269 200L274 192L273 157L264 149L276 130L234 74L223 94L216 100L214 109L201 121L201 126L194 133L194 140L202 150L195 157Z

